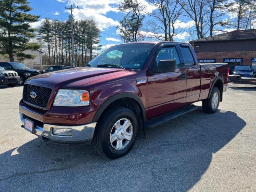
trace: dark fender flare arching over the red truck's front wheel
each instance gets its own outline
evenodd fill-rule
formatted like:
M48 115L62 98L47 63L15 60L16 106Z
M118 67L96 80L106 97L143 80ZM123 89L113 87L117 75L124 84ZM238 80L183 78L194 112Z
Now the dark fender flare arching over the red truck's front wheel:
M142 103L142 100L136 96L135 94L132 93L119 93L116 94L114 96L111 96L110 98L108 98L106 101L104 101L104 103L100 106L100 108L98 108L96 114L94 115L94 118L92 119L92 122L96 122L99 120L100 116L102 115L102 113L104 112L104 110L114 101L121 99L121 98L132 98L134 100L136 100L142 110L142 114L143 114L143 118L145 120L146 118L146 111L145 111L145 107L144 104Z

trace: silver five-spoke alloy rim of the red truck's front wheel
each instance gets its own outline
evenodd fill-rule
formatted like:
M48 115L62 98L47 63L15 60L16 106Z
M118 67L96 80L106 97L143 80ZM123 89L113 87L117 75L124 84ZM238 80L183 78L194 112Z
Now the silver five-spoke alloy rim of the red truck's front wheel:
M123 150L132 140L133 127L130 120L122 118L111 129L110 143L115 150Z

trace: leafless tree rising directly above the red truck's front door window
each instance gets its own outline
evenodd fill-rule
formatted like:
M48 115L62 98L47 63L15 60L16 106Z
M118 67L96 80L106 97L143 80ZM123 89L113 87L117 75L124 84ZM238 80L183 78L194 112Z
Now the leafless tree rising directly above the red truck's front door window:
M182 30L175 25L180 21L182 8L176 0L148 0L157 9L152 13L146 12L153 20L148 21L148 36L158 40L172 41L173 37ZM144 11L145 12L145 11Z

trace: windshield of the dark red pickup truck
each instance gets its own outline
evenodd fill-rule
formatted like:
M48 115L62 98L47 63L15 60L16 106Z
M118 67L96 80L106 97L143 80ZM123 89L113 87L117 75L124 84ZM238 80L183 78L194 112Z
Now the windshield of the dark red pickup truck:
M89 62L92 67L142 69L154 44L112 46Z

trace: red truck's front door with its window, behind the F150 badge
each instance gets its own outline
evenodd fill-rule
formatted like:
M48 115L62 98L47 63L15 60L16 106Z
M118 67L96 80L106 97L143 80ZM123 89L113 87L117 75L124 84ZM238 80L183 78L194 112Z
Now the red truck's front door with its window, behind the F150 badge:
M158 66L160 60L175 60L176 71L157 73L148 76L148 112L147 118L152 118L180 108L186 103L186 68L182 66L175 45L166 45L158 51L150 67Z

